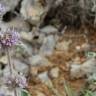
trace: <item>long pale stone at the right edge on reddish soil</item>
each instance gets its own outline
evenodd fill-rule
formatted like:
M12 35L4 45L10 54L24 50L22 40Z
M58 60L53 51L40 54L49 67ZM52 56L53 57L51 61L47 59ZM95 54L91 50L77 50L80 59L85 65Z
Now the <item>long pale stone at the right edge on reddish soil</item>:
M83 64L72 64L70 69L71 78L81 78L96 73L96 59L88 59Z

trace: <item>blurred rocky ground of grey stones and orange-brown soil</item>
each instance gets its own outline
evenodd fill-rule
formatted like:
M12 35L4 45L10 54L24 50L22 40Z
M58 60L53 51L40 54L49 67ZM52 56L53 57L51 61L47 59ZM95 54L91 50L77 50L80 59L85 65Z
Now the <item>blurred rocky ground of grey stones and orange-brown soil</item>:
M95 90L96 86L89 81L96 80L96 29L64 26L59 31L58 21L39 28L50 8L41 1L0 0L6 6L1 30L16 28L23 42L11 53L15 70L28 77L27 90L32 96L71 96L66 92L66 84L74 90L74 96L81 96L86 86ZM2 77L9 73L7 56L2 50L0 69L2 84Z

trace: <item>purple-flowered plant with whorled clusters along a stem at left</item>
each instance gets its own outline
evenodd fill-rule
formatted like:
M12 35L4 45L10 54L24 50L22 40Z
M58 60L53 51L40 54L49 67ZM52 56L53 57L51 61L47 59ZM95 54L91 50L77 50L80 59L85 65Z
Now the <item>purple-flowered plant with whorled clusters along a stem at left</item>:
M0 20L3 16L3 13L6 11L6 8L4 5L0 4ZM1 21L2 23L2 21ZM0 49L3 49L6 52L7 58L8 58L8 68L10 71L10 74L4 78L4 84L14 91L14 96L18 96L17 88L26 88L27 87L27 80L25 76L20 72L15 72L13 64L12 64L12 58L11 58L11 50L16 45L20 44L21 39L18 31L15 28L9 28L5 31L0 31ZM14 74L15 72L15 74ZM0 96L6 96L6 92L0 91Z

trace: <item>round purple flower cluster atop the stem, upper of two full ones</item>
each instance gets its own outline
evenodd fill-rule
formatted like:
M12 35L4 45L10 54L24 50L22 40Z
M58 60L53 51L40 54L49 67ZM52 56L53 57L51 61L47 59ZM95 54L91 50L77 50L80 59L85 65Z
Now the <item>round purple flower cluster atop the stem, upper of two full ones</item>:
M14 29L8 29L5 32L0 32L0 46L12 47L16 45L20 40L18 32Z

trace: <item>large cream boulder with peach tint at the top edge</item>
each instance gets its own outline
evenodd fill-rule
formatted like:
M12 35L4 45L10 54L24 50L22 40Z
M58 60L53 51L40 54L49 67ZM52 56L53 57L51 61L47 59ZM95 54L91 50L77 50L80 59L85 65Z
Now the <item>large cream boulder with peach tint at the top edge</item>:
M39 0L23 0L21 4L21 14L25 20L36 25L39 23L41 15L44 13L45 8L39 4Z

